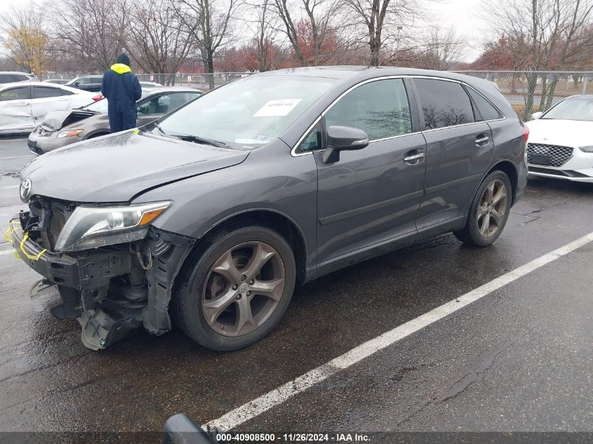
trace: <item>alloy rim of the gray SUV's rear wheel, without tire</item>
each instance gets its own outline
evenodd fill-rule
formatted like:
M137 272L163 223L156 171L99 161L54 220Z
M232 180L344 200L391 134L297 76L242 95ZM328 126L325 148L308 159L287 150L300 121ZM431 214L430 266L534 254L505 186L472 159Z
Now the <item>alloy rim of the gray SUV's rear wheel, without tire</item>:
M478 206L478 230L484 237L494 236L505 222L507 213L507 187L502 180L488 184Z

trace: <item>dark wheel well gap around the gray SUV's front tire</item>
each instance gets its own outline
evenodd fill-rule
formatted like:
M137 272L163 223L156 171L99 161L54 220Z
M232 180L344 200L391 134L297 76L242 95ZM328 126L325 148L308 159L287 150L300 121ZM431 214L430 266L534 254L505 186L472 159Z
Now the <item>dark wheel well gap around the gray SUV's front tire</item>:
M244 225L249 223L264 225L270 229L273 229L282 237L284 237L286 242L288 242L288 245L291 246L291 249L295 255L297 281L304 281L305 269L307 265L307 247L305 245L305 239L302 237L300 230L292 220L284 215L281 215L280 213L275 213L274 211L269 210L248 211L246 213L229 217L229 219L223 220L222 222L216 224L214 227L209 229L206 234L204 234L204 236L199 238L199 241L197 241L196 245L194 245L192 252L187 255L187 259L195 257L195 253L204 244L206 238L208 238L208 236L213 234L215 231L230 227L232 225ZM184 263L182 268L185 268L186 265L187 264Z

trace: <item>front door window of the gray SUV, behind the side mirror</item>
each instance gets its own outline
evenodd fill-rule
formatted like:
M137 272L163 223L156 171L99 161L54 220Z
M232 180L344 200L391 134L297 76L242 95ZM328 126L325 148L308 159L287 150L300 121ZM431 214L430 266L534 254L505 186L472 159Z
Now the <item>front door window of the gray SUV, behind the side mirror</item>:
M410 105L402 79L377 80L359 86L342 97L325 119L327 127L364 130L371 141L412 132Z

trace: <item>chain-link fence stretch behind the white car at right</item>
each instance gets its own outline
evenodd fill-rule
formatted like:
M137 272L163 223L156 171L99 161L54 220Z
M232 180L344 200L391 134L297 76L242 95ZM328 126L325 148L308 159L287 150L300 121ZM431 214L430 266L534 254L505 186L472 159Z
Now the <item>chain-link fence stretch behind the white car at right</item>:
M593 94L593 72L457 71L493 81L525 121L575 94Z

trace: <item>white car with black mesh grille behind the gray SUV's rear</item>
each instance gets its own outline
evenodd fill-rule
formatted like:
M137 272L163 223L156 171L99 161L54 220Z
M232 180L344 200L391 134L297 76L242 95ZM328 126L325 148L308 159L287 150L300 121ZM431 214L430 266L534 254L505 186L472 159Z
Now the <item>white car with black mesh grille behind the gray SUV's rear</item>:
M567 97L527 122L529 174L593 182L593 95Z

